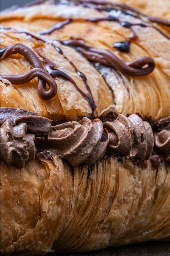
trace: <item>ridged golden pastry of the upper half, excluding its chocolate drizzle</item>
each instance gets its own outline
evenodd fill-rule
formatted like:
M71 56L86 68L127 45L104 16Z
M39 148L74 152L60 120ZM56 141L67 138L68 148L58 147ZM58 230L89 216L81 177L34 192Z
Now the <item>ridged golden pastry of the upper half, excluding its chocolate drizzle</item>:
M59 28L51 33L41 35L41 38L43 37L44 40L58 40L53 42L53 44L62 49L66 58L61 53L57 53L54 47L51 47L49 44L43 43L41 40L37 40L34 37L31 38L29 34L27 34L27 36L22 33L17 34L16 31L14 32L12 30L5 31L2 29L1 38L3 43L1 47L16 42L31 46L31 49L41 60L45 57L51 62L54 62L57 69L66 72L76 84L79 85L80 89L87 93L82 77L75 71L75 67L80 72L83 72L87 77L87 83L97 106L95 110L96 117L105 110L108 110L110 106L113 106L118 114L122 113L126 115L139 113L141 116L148 116L152 119L160 119L169 116L170 73L168 67L170 65L170 41L167 39L170 35L169 27L163 25L160 27L159 23L148 22L146 17L140 16L135 18L134 16L127 15L120 11L99 11L95 8L84 7L79 4L73 4L69 5L69 8L67 7L67 3L57 3L55 5L45 1L43 4L30 7L26 6L1 13L2 25L20 27L21 31L30 30L36 32L37 37L39 33L42 34L42 31L64 21L63 26L58 26ZM135 13L130 14L135 15ZM116 20L93 21L94 19L103 19L111 15L117 17L120 22ZM65 22L70 19L71 22ZM142 23L147 24L147 26L139 25L128 27L125 23ZM165 33L165 35L157 29L162 29L161 31ZM134 33L136 38L134 38ZM126 41L130 38L129 53L121 52L119 49L113 47L114 43ZM119 59L125 61L133 61L142 56L151 57L156 63L156 68L149 75L132 77L122 74L113 67L107 67L99 63L94 62L92 66L90 61L88 61L86 57L83 57L84 54L82 56L82 50L81 53L79 53L70 46L59 42L66 42L70 39L83 40L86 45L96 49L108 50L114 53ZM21 62L21 60L18 61L18 65L15 64L15 66L17 66L14 70L15 74L16 69L18 69L20 73L23 73L24 70L31 69L29 63L26 64L24 58L21 59L23 66L20 67L19 62ZM2 74L11 74L12 72L11 65L9 68L8 61L11 63L11 59L8 60L8 58L1 60L5 69L5 71L2 69ZM75 67L73 67L69 61L71 61ZM44 59L44 67L47 66L46 64L47 60ZM91 74L93 75L91 76ZM57 120L73 120L75 116L89 116L91 113L89 104L87 100L78 93L73 84L71 84L70 81L63 81L60 78L58 78L56 82L58 85L58 94L54 99L50 100L48 104L47 102L44 104L44 102L40 101L35 95L35 84L37 84L37 81L33 80L29 82L27 86L20 86L19 88L14 85L15 92L17 91L21 97L22 94L24 94L24 90L28 91L29 87L29 102L27 102L27 104L23 103L19 105L19 107L36 111L41 115L43 114L46 117ZM33 98L32 95L34 99L36 98L38 106L35 100L33 104L33 99L31 99ZM3 96L1 97L4 102L7 102L6 93L4 99ZM24 100L27 101L26 98ZM12 104L14 106L13 102ZM9 106L8 103L5 103L5 106ZM57 111L56 116L54 109Z

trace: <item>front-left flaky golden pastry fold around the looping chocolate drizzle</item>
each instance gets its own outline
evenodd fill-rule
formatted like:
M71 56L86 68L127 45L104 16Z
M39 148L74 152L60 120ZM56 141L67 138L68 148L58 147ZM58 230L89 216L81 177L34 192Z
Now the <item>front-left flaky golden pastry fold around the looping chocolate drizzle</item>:
M29 38L26 34L16 33L12 30L1 31L1 39L3 43L1 46L7 46L20 42L25 44L30 49L41 47L42 54L46 56L51 61L54 61L56 67L74 79L75 83L82 89L85 93L87 92L85 84L80 76L78 76L75 68L64 58L64 55L58 53L54 47L49 44L45 44L36 39ZM107 108L109 105L113 104L112 93L108 86L105 84L103 78L98 74L97 70L80 54L73 51L73 49L67 46L59 45L66 56L70 60L78 58L81 60L81 65L74 64L77 68L81 69L87 76L87 82L91 88L92 95L98 106L95 113L100 115L101 111ZM67 52L66 52L67 51ZM37 52L35 52L37 54ZM38 55L38 54L37 54ZM38 55L40 58L40 56ZM40 58L42 60L42 58ZM32 69L32 65L23 57L19 55L14 55L13 57L8 56L4 60L1 60L1 74L23 74ZM93 74L93 76L91 76ZM83 96L75 89L74 85L70 81L63 79L57 79L56 83L58 85L58 92L56 96L49 100L44 101L39 99L37 95L37 84L38 80L34 80L24 84L24 85L10 85L5 86L1 83L1 103L0 106L9 106L14 108L23 108L35 111L42 116L53 119L54 121L60 120L73 120L76 116L89 116L91 113L91 108L88 102L83 98ZM98 104L100 102L100 104Z

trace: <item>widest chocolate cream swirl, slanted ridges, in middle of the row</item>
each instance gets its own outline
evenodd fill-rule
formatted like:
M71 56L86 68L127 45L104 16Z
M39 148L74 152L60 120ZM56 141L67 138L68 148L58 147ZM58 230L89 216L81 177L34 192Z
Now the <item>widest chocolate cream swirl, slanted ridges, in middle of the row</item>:
M67 122L51 128L48 140L36 138L37 147L42 144L47 149L55 150L61 158L66 158L72 166L80 163L91 165L102 158L109 141L108 132L103 129L100 119L92 122L83 117L79 122Z

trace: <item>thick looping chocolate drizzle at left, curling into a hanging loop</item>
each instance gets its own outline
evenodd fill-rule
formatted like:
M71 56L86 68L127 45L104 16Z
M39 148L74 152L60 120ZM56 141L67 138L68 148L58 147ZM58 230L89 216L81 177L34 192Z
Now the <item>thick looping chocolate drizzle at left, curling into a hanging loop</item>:
M57 93L57 84L55 80L44 69L41 61L30 48L23 44L14 44L0 50L0 59L4 59L8 55L19 53L33 65L33 69L22 75L1 75L2 78L9 80L12 84L24 84L38 76L37 93L40 99L50 100ZM41 77L41 78L39 78ZM46 90L46 82L49 90Z

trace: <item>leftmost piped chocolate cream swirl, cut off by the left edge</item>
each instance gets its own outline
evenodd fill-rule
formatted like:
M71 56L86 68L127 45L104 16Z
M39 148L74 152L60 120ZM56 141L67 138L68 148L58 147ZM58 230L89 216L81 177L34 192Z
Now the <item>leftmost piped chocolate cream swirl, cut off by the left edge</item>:
M34 160L35 136L26 132L26 123L13 126L10 120L6 120L0 127L0 159L4 163L13 163L22 168L26 161Z

